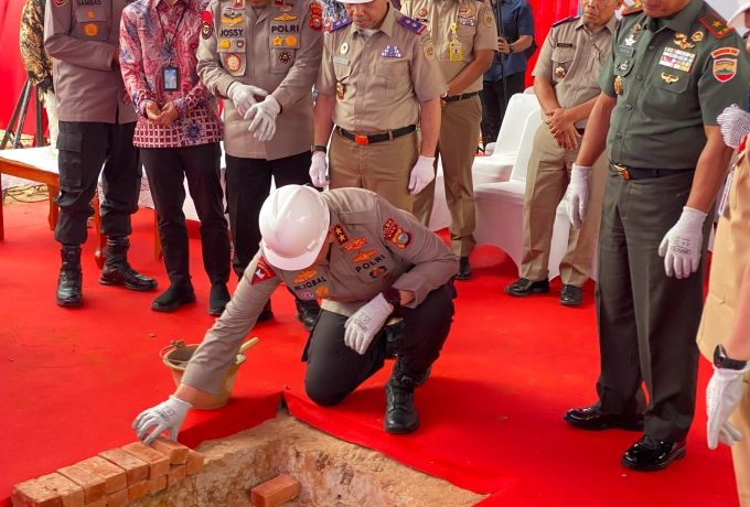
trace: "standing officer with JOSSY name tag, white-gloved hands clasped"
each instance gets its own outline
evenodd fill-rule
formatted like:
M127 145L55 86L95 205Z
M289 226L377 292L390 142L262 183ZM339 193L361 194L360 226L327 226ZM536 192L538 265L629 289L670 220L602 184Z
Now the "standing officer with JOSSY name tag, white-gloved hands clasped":
M312 84L323 51L323 8L311 0L212 0L203 13L197 73L224 101L226 197L242 278L260 244L271 190L310 182ZM320 312L296 299L310 331ZM260 320L272 317L270 300Z

